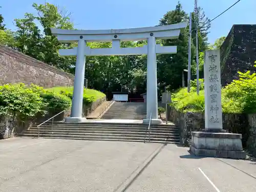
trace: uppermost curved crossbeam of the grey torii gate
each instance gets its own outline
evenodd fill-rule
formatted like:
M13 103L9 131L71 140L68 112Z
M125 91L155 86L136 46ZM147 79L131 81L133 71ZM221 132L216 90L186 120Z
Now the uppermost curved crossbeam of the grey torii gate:
M52 34L56 35L60 42L74 42L83 36L83 39L87 42L92 41L135 41L146 40L150 37L151 33L154 33L155 38L170 39L178 38L181 30L187 26L187 22L156 26L156 27L142 27L132 29L109 29L109 30L67 30L67 29L53 29Z

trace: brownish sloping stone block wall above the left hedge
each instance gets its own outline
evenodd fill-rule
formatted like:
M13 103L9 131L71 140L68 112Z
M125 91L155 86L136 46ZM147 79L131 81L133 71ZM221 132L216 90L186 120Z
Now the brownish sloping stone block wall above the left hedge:
M19 82L44 88L72 86L74 76L0 45L0 85Z

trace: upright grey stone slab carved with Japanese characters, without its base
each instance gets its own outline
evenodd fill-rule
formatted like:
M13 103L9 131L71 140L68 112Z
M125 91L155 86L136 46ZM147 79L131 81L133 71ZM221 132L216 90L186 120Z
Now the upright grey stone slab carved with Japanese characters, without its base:
M205 129L222 129L220 50L204 54Z

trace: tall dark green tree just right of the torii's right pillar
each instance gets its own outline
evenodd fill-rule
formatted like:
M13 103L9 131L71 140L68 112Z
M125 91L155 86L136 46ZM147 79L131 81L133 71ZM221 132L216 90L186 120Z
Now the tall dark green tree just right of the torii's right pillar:
M188 15L182 10L182 6L178 2L175 10L168 11L160 19L159 25L171 25L187 20ZM178 39L162 40L163 46L177 46L177 54L158 55L157 57L158 83L161 89L165 85L169 85L171 89L177 89L182 85L181 75L183 70L187 68L187 44L188 38L185 33L180 34Z

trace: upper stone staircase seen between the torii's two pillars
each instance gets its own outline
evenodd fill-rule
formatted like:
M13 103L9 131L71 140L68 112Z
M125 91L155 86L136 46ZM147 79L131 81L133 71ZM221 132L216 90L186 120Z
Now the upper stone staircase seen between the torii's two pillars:
M146 118L146 103L144 102L115 102L101 119L134 119Z

